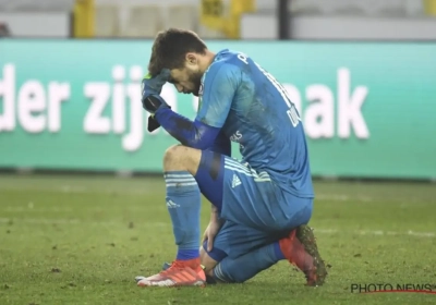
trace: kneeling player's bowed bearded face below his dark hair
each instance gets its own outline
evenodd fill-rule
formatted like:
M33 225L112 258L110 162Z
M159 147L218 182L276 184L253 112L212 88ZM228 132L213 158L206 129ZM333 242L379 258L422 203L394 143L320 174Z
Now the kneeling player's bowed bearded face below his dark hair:
M171 70L171 80L169 82L174 84L179 93L198 96L202 76L203 72L196 58L187 57L184 68Z

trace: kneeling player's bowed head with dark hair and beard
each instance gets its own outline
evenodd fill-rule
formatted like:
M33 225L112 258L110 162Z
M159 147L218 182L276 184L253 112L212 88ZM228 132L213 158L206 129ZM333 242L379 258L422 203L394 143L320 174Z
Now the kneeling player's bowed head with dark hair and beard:
M169 82L180 93L197 96L202 76L213 57L194 32L170 28L156 36L148 72L155 76L162 69L170 69Z

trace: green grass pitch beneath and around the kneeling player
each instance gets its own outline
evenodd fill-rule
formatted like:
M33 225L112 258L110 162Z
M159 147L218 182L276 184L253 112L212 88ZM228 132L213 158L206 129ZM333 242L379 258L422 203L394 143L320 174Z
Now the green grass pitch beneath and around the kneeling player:
M311 224L331 265L322 288L286 261L243 284L144 289L174 256L160 179L0 176L0 304L435 304L351 293L436 282L436 185L317 182ZM203 222L209 205L203 205Z

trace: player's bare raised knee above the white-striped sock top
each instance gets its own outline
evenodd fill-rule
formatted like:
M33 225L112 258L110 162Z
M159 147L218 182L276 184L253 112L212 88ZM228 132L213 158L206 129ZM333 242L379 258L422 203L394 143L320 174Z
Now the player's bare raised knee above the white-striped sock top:
M192 174L198 169L202 152L183 145L169 147L164 155L165 171L189 171Z

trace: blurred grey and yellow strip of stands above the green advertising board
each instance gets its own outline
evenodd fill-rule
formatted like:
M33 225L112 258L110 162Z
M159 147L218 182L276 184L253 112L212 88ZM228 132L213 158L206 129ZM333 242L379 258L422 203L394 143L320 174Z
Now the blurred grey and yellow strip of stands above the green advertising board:
M2 35L204 38L434 39L435 0L0 0Z

